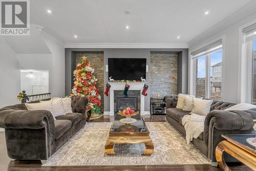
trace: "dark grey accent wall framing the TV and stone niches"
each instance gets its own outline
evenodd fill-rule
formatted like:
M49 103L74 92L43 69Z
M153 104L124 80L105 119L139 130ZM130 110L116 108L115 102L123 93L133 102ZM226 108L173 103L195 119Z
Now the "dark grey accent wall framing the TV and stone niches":
M105 65L108 65L108 58L146 58L148 72L146 73L147 84L150 87L150 54L151 52L161 53L178 53L178 93L187 93L187 49L87 49L87 48L66 48L65 49L65 65L66 65L66 95L70 94L73 83L73 71L75 70L75 54L92 51L103 51L104 53L104 90L105 85L109 81L108 72L105 71ZM179 54L180 53L180 54ZM182 58L180 60L179 58ZM179 78L179 76L181 78ZM150 88L147 90L145 97L145 111L150 111ZM110 111L110 99L104 95L104 111Z

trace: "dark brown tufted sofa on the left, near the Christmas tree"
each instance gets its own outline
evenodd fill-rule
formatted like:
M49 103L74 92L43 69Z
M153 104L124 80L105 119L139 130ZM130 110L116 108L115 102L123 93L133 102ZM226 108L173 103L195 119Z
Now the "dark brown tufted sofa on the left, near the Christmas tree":
M72 98L73 113L56 120L49 111L28 111L24 103L0 109L8 156L44 163L86 124L87 103L86 97Z

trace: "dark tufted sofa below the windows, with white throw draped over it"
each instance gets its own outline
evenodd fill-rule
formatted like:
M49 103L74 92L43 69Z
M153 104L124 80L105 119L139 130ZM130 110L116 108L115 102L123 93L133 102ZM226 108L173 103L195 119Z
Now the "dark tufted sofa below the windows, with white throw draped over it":
M182 125L182 118L189 115L182 109L177 109L178 96L165 96L166 102L166 120L180 134L186 136L186 131ZM249 111L224 111L234 103L214 100L211 104L209 114L205 118L204 132L197 139L191 141L200 152L208 157L212 165L217 166L215 149L219 142L224 139L221 134L251 134L256 133L253 130L253 119L256 119L256 110ZM231 156L225 154L225 161L237 161Z

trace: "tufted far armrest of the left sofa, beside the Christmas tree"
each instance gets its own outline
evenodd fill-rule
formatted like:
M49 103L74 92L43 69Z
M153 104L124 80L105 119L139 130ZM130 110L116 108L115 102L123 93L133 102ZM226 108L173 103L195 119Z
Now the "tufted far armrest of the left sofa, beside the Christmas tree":
M86 119L86 107L88 104L88 99L86 97L73 97L72 98L72 112L81 113L83 118Z

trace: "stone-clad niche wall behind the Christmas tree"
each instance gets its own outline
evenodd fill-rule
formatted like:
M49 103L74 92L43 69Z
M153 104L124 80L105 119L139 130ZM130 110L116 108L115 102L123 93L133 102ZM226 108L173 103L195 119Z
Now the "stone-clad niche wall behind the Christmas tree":
M90 65L94 68L93 75L98 78L97 88L101 96L101 112L104 111L104 56L103 53L77 53L76 54L76 65L81 60L81 57L87 57L90 61Z

